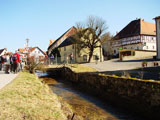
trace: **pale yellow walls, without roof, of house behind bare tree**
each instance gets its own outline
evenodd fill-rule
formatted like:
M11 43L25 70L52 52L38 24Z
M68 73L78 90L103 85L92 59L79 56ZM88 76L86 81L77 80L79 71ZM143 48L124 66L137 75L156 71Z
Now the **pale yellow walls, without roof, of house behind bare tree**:
M83 49L78 54L77 50L75 50L75 49L76 49L76 45L68 45L68 46L59 48L60 54L61 54L61 61L62 62L66 61L66 62L70 63L70 55L73 53L75 62L78 62L78 63L87 62L89 59L89 56L88 56L89 51L87 49ZM98 61L101 61L101 60L103 61L102 48L96 48L94 50L91 62L96 61L95 55L99 56ZM101 56L101 60L100 60L100 56Z

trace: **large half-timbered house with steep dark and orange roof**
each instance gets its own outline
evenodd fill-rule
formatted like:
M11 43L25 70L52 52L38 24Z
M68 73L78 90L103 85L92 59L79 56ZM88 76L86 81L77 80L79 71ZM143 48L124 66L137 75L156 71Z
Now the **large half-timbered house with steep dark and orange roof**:
M156 51L155 24L136 19L124 27L111 41L112 54L118 55L119 50L134 49Z

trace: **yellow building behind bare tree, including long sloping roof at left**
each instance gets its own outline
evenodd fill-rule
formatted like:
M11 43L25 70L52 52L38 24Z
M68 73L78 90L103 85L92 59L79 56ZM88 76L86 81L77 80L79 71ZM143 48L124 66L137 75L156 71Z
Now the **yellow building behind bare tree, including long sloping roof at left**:
M61 62L68 62L71 63L71 56L73 57L72 62L76 63L82 63L87 62L89 59L89 50L82 49L81 51L78 51L77 44L74 44L74 39L72 38L72 35L76 33L76 28L72 27L68 31L66 31L60 38L58 38L55 42L53 42L48 47L48 55L51 56L51 51L53 49L58 48L58 51L60 52L60 61ZM98 45L99 43L97 43ZM91 59L91 62L96 61L96 56L99 57L98 61L103 61L103 55L102 55L102 48L96 48L93 52L93 57ZM56 59L57 56L54 56ZM59 61L59 60L57 60Z

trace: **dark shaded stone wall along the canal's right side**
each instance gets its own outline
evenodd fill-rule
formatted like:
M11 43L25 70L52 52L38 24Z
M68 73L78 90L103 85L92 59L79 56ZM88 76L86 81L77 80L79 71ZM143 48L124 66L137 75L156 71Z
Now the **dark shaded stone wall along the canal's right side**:
M130 109L149 119L160 119L160 82L158 81L97 73L74 73L68 68L52 69L51 73L71 81L76 88L98 96L104 101Z

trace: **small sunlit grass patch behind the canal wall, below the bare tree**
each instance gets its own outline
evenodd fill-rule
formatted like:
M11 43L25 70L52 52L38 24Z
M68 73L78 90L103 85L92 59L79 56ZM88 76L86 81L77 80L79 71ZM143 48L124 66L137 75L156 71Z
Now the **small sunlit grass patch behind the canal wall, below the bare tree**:
M49 68L60 68L64 65L50 65ZM92 67L88 67L81 64L66 64L65 67L70 68L73 72L81 73L81 72L98 72L96 69Z

